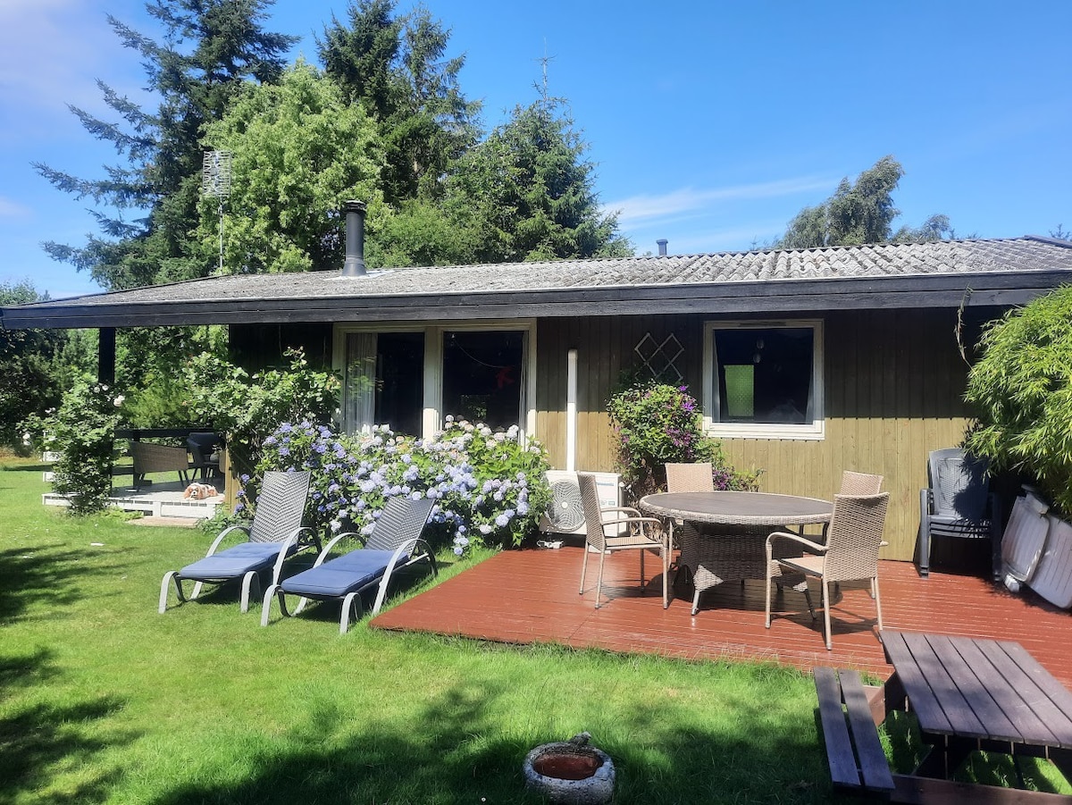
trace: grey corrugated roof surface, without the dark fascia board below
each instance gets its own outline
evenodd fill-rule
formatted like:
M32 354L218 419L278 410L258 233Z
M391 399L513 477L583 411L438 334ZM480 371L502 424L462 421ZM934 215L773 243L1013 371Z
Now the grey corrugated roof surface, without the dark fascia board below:
M481 294L778 280L879 279L1070 270L1072 243L1041 238L954 240L794 251L567 259L370 271L233 274L78 297L80 304ZM47 304L70 304L57 300Z

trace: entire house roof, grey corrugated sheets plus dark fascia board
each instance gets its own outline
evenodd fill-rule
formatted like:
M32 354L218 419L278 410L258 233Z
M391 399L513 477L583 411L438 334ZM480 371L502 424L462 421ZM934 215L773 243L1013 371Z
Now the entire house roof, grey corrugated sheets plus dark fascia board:
M1072 243L1024 237L792 251L238 274L0 309L8 327L490 318L1016 304L1072 282Z

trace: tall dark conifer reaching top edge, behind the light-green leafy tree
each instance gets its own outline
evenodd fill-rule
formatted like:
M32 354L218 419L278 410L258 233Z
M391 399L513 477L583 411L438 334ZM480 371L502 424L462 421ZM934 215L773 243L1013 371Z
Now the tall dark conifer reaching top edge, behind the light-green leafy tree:
M463 95L464 57L447 58L450 32L418 6L398 16L393 0L357 0L347 24L332 17L317 40L325 72L377 121L384 198L394 207L442 195L451 163L479 136L478 102Z

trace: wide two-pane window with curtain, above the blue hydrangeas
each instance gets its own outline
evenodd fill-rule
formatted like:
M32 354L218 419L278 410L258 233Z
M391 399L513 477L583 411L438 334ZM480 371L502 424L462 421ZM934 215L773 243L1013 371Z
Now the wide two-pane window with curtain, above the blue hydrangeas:
M535 324L337 327L347 430L387 424L431 437L447 414L532 433Z

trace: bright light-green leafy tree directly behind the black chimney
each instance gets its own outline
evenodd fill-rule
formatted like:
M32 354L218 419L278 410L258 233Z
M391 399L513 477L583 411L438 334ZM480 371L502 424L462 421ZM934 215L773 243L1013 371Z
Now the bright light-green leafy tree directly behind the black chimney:
M370 204L370 239L388 214L379 193L383 146L375 122L308 63L285 71L277 85L248 87L206 128L206 141L233 153L223 224L227 273L339 269L342 203ZM217 206L205 199L205 249L214 249L218 237Z

